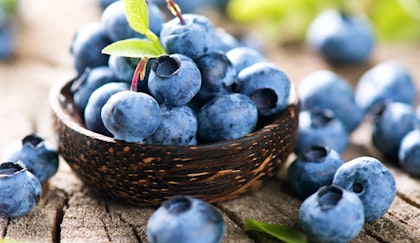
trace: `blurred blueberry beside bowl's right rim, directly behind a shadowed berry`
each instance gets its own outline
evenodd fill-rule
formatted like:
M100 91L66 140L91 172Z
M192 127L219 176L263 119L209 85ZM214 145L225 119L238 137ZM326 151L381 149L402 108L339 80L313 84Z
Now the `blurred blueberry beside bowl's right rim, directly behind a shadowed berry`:
M342 154L347 148L348 136L343 123L331 110L301 111L295 152L300 154L312 145L321 145Z

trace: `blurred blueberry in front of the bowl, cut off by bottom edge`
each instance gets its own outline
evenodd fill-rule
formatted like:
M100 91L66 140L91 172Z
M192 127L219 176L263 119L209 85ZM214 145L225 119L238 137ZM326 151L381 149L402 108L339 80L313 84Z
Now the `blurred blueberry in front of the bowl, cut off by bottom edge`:
M179 195L164 202L152 214L146 230L150 243L219 243L226 225L211 204Z

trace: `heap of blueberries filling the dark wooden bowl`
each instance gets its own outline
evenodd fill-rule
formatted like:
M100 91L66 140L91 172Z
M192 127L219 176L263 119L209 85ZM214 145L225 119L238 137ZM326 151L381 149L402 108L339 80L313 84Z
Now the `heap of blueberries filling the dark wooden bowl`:
M203 15L165 20L153 2L147 8L167 54L147 62L141 81L133 78L138 58L101 53L119 40L145 39L130 27L123 1L74 38L73 99L88 129L126 142L196 145L243 137L287 106L291 82L263 54Z

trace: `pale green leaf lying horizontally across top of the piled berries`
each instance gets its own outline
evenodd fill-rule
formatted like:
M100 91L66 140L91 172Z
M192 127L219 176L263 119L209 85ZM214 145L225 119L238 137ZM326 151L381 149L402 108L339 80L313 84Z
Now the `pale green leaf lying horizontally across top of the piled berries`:
M114 42L106 46L102 53L134 58L158 57L164 54L152 41L135 38Z

